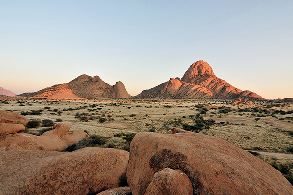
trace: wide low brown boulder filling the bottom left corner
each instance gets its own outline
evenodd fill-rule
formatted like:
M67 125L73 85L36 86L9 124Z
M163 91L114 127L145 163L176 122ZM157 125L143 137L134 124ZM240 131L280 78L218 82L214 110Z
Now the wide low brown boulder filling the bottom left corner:
M129 153L89 147L74 152L1 151L1 195L87 195L117 188Z

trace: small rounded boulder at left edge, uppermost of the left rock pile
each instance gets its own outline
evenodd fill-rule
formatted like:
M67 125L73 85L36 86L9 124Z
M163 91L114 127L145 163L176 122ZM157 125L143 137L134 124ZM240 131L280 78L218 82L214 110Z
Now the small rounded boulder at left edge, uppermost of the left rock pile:
M0 123L27 125L28 119L14 112L0 110Z

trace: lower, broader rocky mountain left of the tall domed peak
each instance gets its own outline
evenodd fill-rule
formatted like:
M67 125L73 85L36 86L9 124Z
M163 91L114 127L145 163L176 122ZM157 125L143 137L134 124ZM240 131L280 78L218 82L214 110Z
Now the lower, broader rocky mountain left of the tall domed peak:
M105 83L99 76L81 75L69 83L47 87L34 93L19 96L33 98L132 98L122 82Z

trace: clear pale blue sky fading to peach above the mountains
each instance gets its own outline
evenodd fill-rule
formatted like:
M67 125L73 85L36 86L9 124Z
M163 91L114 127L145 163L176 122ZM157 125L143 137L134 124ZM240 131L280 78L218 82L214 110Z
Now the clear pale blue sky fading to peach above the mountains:
M293 97L293 0L0 0L0 86L17 94L87 74L134 96L198 60Z

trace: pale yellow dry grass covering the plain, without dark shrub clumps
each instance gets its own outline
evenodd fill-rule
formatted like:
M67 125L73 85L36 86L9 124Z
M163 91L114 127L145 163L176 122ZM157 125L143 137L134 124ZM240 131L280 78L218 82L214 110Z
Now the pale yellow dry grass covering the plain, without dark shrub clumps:
M285 117L293 117L293 114L274 114L272 116L272 109L290 111L293 110L293 105L271 102L256 103L253 105L233 105L232 100L46 101L27 99L19 102L11 100L8 104L0 104L0 110L11 110L16 113L42 110L42 115L26 115L25 117L39 120L50 118L53 121L62 119L62 123L68 124L71 131L86 130L90 134L112 137L111 141L118 143L122 141L121 138L113 137L113 135L119 132L150 131L153 128L156 132L170 133L163 128L163 124L174 119L182 119L184 123L192 124L193 121L189 115L200 113L201 108L199 107L204 106L208 109L208 112L203 114L205 119L212 118L217 123L224 124L216 124L201 133L227 140L243 149L292 153L290 148L293 145L293 133L290 132L293 131L293 119ZM20 104L24 106L20 106ZM92 107L94 104L96 106ZM218 107L221 106L230 107L232 111L219 113ZM50 109L44 109L45 107L50 107ZM270 112L264 117L257 116L264 114L260 112L238 112L239 109L246 108L250 110L251 108L267 109ZM58 111L62 113L58 115ZM81 121L75 117L76 113L85 113L82 116L96 118L105 115L103 117L107 121L105 123L100 123L99 119ZM109 118L113 118L113 120L108 121ZM260 118L260 120L256 122L255 118ZM39 129L42 127L31 129L31 131Z

